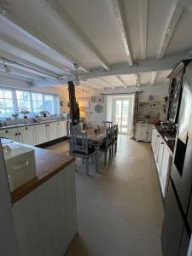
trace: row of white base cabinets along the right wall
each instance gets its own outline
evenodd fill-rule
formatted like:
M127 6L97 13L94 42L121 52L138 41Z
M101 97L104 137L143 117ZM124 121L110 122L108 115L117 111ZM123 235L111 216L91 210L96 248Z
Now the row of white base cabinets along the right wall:
M168 189L169 175L172 165L172 154L167 148L166 143L160 137L160 133L153 127L151 146L154 152L154 160L157 166L158 176L160 179L160 188L162 195L166 197Z

